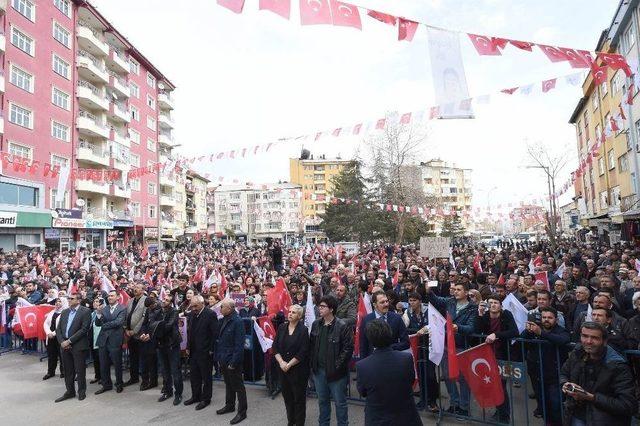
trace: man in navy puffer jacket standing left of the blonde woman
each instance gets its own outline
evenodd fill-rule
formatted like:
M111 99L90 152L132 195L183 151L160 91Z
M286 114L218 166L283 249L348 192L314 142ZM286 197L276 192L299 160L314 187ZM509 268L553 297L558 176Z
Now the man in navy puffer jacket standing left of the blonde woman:
M244 324L236 312L236 302L233 299L224 299L222 301L220 313L224 318L218 334L216 361L220 364L226 389L225 406L216 411L216 413L234 412L237 395L238 414L230 422L234 425L247 418L247 392L242 381Z

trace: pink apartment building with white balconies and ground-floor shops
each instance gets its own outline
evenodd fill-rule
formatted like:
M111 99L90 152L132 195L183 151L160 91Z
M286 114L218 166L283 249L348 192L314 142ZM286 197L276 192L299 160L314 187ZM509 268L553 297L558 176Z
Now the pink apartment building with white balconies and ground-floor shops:
M125 176L172 159L175 87L89 2L0 0L0 13L1 151ZM57 185L5 167L0 248L156 242L175 179L69 179L56 202Z

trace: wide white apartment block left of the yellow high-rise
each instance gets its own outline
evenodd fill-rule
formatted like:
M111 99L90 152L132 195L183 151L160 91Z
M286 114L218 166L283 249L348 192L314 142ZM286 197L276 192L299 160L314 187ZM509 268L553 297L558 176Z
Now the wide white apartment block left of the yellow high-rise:
M302 187L291 183L221 185L209 196L209 229L218 238L298 240Z

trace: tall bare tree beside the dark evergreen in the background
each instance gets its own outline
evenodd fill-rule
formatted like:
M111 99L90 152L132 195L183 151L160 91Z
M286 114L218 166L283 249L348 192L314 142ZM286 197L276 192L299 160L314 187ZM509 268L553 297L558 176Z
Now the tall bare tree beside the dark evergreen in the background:
M422 189L420 168L415 165L426 140L427 132L424 127L400 124L397 114L387 114L384 128L365 141L370 152L365 161L368 180L377 200L398 206L428 204L428 198ZM397 242L403 241L410 214L398 211Z

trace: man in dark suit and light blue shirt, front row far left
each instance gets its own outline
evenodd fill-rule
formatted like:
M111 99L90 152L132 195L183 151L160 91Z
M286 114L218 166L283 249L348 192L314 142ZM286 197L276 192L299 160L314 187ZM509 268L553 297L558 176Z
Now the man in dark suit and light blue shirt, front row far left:
M67 391L56 402L76 396L75 381L78 381L78 399L82 401L87 395L87 366L89 352L89 326L91 311L80 306L80 296L69 296L69 308L60 314L60 323L56 328L56 338L62 350L64 365L64 382Z

